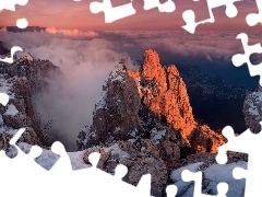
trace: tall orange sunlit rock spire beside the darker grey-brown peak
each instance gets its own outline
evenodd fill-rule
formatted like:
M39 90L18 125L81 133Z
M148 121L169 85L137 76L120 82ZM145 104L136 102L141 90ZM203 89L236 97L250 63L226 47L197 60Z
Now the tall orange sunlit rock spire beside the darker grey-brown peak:
M155 114L164 116L182 136L195 127L186 84L176 66L163 67L155 50L146 50L142 65L143 103Z

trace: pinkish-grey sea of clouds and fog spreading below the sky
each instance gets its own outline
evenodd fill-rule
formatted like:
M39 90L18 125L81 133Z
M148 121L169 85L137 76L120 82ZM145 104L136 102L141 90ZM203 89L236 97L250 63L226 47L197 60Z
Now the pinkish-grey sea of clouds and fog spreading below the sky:
M91 125L93 109L109 72L127 59L142 60L143 51L156 49L160 59L174 63L228 65L234 53L243 53L237 32L81 32L47 28L46 32L10 33L0 31L0 40L9 48L21 46L23 56L48 59L61 68L67 80L57 79L50 92L36 97L34 104L44 120L53 120L53 132L69 151L76 149L76 137ZM253 33L251 43L259 42ZM258 59L257 59L258 60Z

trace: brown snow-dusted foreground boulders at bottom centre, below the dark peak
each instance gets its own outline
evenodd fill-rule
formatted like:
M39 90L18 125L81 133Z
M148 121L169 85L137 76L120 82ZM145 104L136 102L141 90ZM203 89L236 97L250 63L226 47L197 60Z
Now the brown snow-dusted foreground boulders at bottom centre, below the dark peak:
M148 139L118 141L110 147L93 147L86 150L84 161L88 163L88 155L99 152L100 160L97 167L114 174L118 164L128 167L123 181L138 185L144 174L152 175L153 196L163 196L167 183L167 169L160 159L156 144Z

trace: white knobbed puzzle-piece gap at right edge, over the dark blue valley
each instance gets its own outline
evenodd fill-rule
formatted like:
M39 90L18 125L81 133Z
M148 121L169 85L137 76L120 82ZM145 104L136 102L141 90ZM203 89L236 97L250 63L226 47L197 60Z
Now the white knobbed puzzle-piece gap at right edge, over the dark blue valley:
M248 35L246 33L238 34L237 39L241 39L245 54L237 54L233 56L231 61L236 67L240 67L243 63L248 65L249 73L251 77L260 76L260 85L262 85L262 62L260 65L252 65L250 62L250 56L252 54L261 54L262 47L261 44L255 44L252 46L248 45Z

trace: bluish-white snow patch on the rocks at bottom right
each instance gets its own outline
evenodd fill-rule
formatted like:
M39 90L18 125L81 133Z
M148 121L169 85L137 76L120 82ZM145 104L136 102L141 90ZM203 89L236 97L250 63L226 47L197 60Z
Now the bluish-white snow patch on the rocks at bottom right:
M183 182L181 178L181 173L183 170L189 170L190 172L199 172L200 166L203 162L198 162L182 166L178 170L175 170L170 174L170 178L174 181L174 184L178 187L178 197L182 196L193 196L194 183L193 182ZM205 169L203 172L202 178L202 194L216 195L217 194L217 184L221 182L226 182L229 185L227 196L245 196L245 179L235 179L233 177L233 170L235 167L247 169L247 162L238 161L225 165L213 164Z

